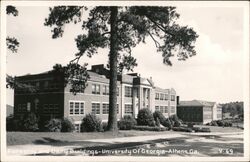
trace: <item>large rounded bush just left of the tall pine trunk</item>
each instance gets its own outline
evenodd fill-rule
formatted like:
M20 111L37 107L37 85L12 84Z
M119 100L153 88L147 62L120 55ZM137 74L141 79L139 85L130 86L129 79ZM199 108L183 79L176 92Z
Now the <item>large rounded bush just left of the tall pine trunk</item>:
M81 131L83 132L100 132L102 130L102 121L93 114L87 114L82 119Z

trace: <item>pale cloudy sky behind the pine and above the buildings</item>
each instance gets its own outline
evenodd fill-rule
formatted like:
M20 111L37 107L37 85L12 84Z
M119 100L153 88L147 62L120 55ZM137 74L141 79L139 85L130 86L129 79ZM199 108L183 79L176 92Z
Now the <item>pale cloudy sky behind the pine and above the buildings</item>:
M82 32L81 24L69 24L62 38L52 39L51 28L44 26L48 7L17 6L17 17L7 16L7 35L15 36L18 53L7 51L7 73L13 76L51 70L55 63L66 65L77 48L74 39ZM240 7L182 7L178 23L192 27L199 38L197 55L186 61L172 59L166 66L154 43L146 39L133 49L142 77L152 77L156 86L174 88L180 100L207 100L219 103L243 100L243 9ZM81 62L107 63L107 49L98 50ZM13 105L13 90L7 90L7 104Z

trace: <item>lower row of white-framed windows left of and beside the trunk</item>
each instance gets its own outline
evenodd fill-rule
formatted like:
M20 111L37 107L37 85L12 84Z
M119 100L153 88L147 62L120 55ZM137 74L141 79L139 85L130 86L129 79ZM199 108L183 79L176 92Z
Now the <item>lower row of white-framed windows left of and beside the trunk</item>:
M70 115L83 115L85 104L82 101L71 101L69 103L69 114ZM102 111L101 111L101 103L95 102L91 104L91 113L92 114L109 114L109 104L102 103ZM119 105L117 104L117 114L119 113Z

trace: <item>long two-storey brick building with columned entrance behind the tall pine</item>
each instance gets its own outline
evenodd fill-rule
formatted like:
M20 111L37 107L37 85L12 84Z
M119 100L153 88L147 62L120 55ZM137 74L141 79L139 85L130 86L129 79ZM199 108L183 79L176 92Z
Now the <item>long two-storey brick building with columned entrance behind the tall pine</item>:
M16 77L21 83L33 85L36 92L15 89L14 116L28 111L36 112L43 119L67 117L79 128L85 114L94 113L103 121L108 120L109 78L104 65L94 65L88 70L90 79L83 93L74 95L70 85L64 86L49 73ZM117 118L124 115L137 117L142 108L161 111L165 116L176 114L176 92L173 88L155 87L152 78L142 78L137 73L118 76Z

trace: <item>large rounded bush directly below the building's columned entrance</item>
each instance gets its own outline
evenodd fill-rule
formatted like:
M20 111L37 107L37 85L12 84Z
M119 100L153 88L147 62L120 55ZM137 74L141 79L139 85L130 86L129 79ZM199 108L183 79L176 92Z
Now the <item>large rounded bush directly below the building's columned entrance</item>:
M155 126L154 116L152 112L147 108L141 109L137 115L137 124Z

